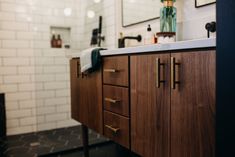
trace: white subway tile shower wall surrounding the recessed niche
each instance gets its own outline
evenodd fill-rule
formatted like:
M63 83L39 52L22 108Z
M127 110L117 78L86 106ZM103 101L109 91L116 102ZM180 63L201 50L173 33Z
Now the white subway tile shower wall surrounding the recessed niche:
M67 52L50 48L50 27L80 31L79 4L0 0L0 92L6 93L8 135L78 125L70 117ZM72 8L70 17L65 8ZM81 36L72 35L71 47L79 49Z

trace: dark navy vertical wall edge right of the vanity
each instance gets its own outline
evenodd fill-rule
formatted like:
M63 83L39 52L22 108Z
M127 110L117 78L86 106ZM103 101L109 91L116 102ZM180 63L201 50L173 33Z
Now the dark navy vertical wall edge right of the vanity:
M216 157L235 156L234 8L234 0L217 0Z

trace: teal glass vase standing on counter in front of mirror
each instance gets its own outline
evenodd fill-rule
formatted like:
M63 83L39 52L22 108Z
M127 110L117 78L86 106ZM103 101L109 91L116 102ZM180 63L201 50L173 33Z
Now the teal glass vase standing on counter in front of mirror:
M160 13L160 31L176 32L177 9L173 6L175 0L161 0L164 7Z

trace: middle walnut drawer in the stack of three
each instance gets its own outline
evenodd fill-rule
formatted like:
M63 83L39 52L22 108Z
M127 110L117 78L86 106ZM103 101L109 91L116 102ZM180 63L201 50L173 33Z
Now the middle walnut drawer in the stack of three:
M104 85L104 109L129 117L129 90Z

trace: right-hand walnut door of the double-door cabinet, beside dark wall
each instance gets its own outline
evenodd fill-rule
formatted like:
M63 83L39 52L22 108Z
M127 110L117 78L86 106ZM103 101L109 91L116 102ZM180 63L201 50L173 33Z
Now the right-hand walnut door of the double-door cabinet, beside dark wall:
M171 90L171 156L215 156L215 52L172 54L180 84Z

